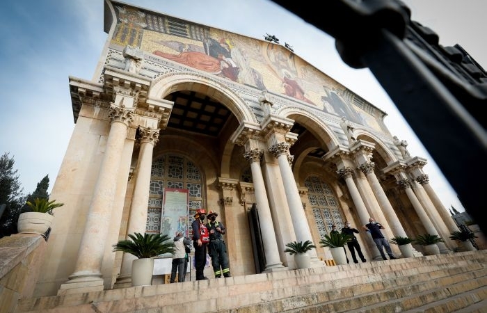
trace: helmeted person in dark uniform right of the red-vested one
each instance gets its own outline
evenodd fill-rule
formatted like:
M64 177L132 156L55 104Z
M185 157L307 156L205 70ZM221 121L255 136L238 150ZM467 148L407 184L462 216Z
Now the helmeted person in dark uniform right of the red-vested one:
M207 228L209 230L209 245L208 254L211 257L211 266L215 273L215 278L230 277L230 264L227 255L227 247L223 240L225 234L225 226L223 223L216 220L218 214L214 211L209 211Z

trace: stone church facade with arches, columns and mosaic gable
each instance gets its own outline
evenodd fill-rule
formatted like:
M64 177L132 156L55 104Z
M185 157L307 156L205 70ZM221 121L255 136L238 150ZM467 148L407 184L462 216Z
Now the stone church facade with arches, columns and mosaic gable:
M385 113L277 42L106 0L108 37L93 79L70 77L76 126L51 198L47 257L34 296L127 286L134 232L191 236L196 209L226 227L233 276L296 268L291 241L319 241L345 221L438 234L454 221ZM400 135L400 134L399 134ZM414 246L422 254L421 246ZM397 246L394 255L400 257Z

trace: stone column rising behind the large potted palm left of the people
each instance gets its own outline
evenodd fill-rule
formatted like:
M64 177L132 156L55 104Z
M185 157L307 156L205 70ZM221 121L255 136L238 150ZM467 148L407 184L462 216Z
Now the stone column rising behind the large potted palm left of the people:
M136 184L134 195L131 200L129 225L127 234L139 232L145 233L147 224L147 203L149 202L150 172L152 169L152 151L154 145L159 141L159 129L150 127L139 127L141 134L141 148L138 152L138 164L136 167ZM129 239L126 236L125 239ZM132 261L136 257L129 253L122 256L122 266L114 288L131 287L131 268Z

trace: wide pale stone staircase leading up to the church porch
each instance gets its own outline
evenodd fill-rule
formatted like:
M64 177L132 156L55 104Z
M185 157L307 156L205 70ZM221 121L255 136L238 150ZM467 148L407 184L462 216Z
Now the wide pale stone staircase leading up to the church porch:
M487 250L31 298L20 312L487 312Z

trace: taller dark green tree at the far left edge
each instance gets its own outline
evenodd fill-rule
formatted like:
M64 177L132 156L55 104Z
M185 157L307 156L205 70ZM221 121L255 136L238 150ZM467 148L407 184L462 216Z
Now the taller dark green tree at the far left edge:
M0 157L0 204L6 204L0 217L0 238L17 233L17 220L26 200L14 164L10 153Z

